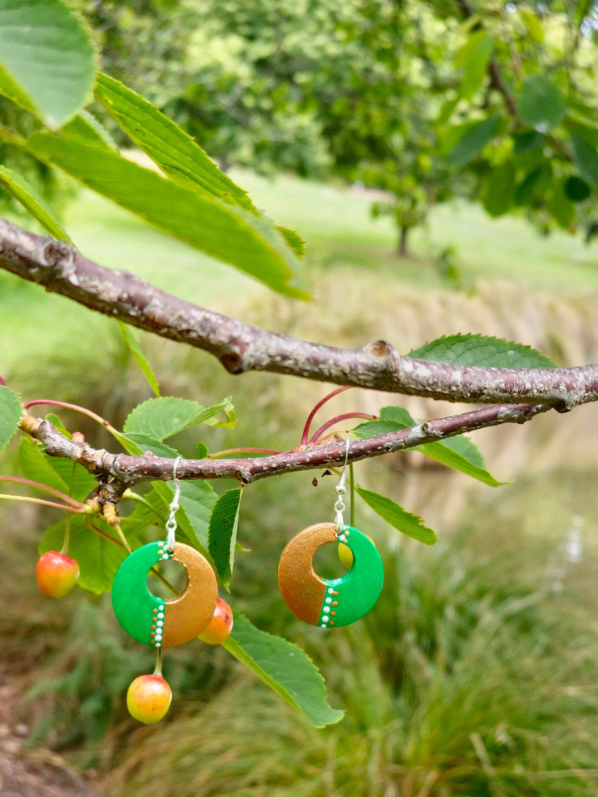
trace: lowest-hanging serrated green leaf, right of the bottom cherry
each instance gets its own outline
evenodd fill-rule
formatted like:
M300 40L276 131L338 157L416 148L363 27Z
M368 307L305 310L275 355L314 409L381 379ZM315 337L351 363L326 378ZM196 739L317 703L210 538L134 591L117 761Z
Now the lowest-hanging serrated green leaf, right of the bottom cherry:
M298 709L315 728L324 728L344 717L326 701L324 679L305 651L293 642L266 634L242 614L234 612L234 626L222 647L254 671L293 709Z

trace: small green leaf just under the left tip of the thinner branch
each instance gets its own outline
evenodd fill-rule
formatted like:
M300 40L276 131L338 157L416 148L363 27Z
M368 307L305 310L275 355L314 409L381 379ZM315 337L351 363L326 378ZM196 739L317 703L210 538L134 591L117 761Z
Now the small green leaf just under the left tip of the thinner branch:
M42 485L53 487L61 493L69 494L71 477L73 477L73 462L61 457L49 457L37 443L23 438L18 450L19 465L23 475L32 481L39 481ZM96 480L82 465L75 465L73 477L73 498L84 501L89 493L96 488Z

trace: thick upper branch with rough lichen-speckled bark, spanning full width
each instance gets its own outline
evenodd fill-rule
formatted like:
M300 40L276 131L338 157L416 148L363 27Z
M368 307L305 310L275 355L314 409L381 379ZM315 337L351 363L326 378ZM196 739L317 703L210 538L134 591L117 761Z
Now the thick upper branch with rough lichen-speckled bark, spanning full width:
M400 355L385 340L344 349L243 324L98 265L65 241L0 219L0 268L134 327L198 347L227 371L269 371L378 391L494 404L522 401L571 410L598 399L598 365L486 368Z

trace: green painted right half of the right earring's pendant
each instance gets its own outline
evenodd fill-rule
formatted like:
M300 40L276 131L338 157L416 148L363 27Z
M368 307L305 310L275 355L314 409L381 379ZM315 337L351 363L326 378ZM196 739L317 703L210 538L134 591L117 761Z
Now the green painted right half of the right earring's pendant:
M348 548L353 554L353 564L340 579L323 579L326 586L326 596L320 610L320 618L325 612L325 607L331 611L336 611L334 628L348 626L350 623L359 620L368 614L376 601L380 598L382 585L384 584L384 567L382 559L372 540L368 540L359 529L352 526L345 526L345 531L350 532L347 538ZM338 595L329 595L329 588L338 592ZM332 607L326 603L326 599L338 601L338 606ZM330 616L330 614L329 614ZM318 622L318 626L323 623Z

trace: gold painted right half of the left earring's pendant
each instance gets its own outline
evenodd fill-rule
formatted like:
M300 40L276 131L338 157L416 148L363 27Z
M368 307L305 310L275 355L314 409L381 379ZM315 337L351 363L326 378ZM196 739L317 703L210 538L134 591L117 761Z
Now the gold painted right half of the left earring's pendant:
M187 586L176 598L164 601L163 647L184 645L201 634L214 614L218 598L214 571L199 551L176 543L171 559L186 568Z

